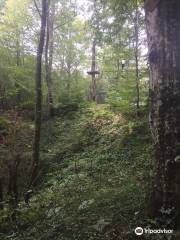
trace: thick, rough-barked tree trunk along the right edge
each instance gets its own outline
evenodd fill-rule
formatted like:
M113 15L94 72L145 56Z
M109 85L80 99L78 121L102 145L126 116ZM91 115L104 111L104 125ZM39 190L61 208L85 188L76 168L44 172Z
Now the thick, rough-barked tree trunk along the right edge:
M156 172L151 213L180 210L180 1L146 1ZM148 7L151 6L151 7Z

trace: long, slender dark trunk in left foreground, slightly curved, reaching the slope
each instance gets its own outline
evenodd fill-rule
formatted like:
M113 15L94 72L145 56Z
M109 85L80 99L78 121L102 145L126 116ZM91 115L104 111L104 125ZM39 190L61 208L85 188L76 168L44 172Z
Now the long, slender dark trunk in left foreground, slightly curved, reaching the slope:
M34 135L34 146L33 146L33 163L32 163L32 176L30 185L33 185L36 181L39 169L39 147L40 147L40 135L41 135L41 110L42 110L42 89L41 89L41 78L42 78L42 54L44 48L45 29L46 29L46 16L47 16L47 0L42 0L42 13L41 13L41 29L39 45L37 49L36 58L36 106L35 106L35 135Z

